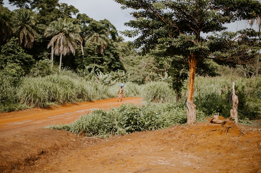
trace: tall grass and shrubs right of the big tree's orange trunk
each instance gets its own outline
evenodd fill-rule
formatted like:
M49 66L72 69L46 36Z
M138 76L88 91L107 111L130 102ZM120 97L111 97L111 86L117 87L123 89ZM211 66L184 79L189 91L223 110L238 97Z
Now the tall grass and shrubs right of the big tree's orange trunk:
M261 111L261 78L242 77L195 78L194 102L197 109L206 114L219 112L228 118L232 108L232 83L235 82L236 95L239 98L239 117L253 118Z

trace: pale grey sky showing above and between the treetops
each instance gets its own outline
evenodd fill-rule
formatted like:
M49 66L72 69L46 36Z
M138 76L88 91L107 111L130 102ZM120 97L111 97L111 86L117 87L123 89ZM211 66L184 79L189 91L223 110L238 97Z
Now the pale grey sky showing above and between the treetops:
M14 6L8 4L8 0L4 0L3 2L4 7L8 7L9 10L12 11L15 9ZM118 4L113 0L59 0L59 3L67 3L68 5L73 5L79 10L79 13L84 13L96 21L107 19L116 27L118 31L132 29L124 26L124 22L132 20L131 16L129 16L129 12L131 12L131 9L122 10L121 4ZM227 25L227 27L230 31L236 31L249 27L249 25L246 21L241 21L229 24ZM119 35L121 34L119 33ZM133 41L135 39L123 35L121 36L124 38L125 41Z

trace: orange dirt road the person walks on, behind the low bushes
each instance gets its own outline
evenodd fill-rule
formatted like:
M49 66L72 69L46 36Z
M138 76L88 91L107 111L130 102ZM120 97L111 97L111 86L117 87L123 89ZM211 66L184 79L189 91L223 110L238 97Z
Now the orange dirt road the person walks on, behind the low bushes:
M52 124L68 124L75 121L79 116L90 113L93 109L109 109L119 107L124 103L140 104L141 98L126 97L122 102L117 98L82 102L67 106L51 107L47 109L27 109L17 112L0 114L0 137L17 135L20 131L32 131Z

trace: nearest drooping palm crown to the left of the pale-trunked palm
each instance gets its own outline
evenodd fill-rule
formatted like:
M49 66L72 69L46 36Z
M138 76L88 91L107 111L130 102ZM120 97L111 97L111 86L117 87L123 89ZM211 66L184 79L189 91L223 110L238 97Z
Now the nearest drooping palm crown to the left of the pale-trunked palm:
M19 44L32 48L36 31L33 29L38 22L36 14L32 10L20 8L14 10L13 32L19 38Z

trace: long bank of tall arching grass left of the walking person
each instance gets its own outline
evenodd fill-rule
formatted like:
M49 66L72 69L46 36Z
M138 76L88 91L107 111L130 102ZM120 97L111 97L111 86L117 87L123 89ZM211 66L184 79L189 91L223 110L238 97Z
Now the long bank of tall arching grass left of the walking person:
M30 107L47 107L109 98L108 87L96 82L79 80L76 75L61 73L45 77L23 78L17 88L21 104Z

